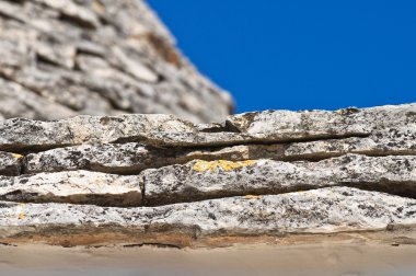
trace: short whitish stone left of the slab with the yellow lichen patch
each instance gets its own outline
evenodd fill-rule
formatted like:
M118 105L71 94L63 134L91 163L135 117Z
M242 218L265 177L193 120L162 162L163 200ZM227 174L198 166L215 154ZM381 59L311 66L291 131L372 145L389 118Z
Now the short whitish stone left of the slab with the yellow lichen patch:
M0 176L0 199L23 203L72 203L140 206L138 176L88 171Z

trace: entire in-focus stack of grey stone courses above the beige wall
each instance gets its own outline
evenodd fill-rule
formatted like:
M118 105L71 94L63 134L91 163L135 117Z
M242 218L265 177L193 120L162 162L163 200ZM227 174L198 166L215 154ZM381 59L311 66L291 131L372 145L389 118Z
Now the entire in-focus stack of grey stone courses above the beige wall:
M199 239L412 226L415 137L416 104L208 125L140 114L7 119L0 240L59 240L65 229Z

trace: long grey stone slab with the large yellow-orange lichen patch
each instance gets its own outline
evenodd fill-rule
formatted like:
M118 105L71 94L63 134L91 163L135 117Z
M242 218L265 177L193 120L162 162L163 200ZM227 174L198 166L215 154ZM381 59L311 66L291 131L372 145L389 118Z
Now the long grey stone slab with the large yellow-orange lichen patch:
M416 197L416 157L346 154L320 162L201 161L141 173L147 205L326 186L356 186Z

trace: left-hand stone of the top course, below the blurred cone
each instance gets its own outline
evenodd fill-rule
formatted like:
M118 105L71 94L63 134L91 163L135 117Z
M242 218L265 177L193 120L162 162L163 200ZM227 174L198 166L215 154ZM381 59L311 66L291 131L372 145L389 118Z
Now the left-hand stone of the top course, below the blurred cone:
M143 141L164 145L192 135L194 126L172 115L77 116L42 122L23 118L0 122L1 150L44 150L83 142Z

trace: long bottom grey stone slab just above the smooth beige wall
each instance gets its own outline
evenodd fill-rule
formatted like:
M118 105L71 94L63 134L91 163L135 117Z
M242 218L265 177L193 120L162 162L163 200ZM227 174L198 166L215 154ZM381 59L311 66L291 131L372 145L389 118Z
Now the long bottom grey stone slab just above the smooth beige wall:
M349 187L304 193L229 197L161 207L103 208L89 205L1 203L0 237L51 234L54 228L108 223L124 228L186 231L194 238L224 234L335 233L385 230L416 222L416 200ZM18 227L18 228L15 228ZM35 227L35 228L33 228ZM13 229L13 231L8 231ZM86 232L86 230L84 230ZM58 237L59 238L59 237Z

